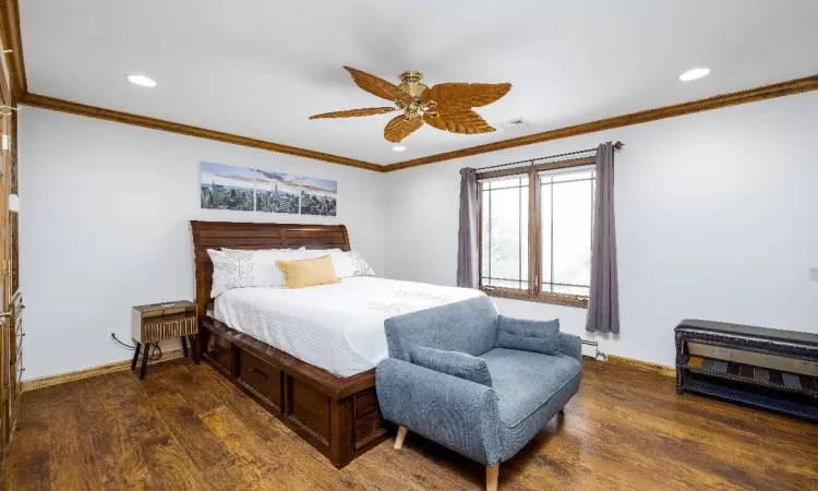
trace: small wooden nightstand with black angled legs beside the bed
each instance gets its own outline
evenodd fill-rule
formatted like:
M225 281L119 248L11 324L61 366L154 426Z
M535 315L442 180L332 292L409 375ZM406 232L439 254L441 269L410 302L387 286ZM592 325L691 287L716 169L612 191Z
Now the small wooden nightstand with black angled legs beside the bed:
M131 361L131 370L136 369L136 361L142 350L140 380L145 379L151 345L175 337L182 339L185 358L188 357L188 340L190 340L193 361L199 364L195 339L197 333L196 304L191 301L180 300L134 307L131 315L131 337L136 343L136 349Z

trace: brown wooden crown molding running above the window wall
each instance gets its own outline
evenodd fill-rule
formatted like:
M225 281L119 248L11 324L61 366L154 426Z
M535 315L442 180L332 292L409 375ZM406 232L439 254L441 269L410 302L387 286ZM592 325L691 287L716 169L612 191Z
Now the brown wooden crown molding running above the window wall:
M673 106L665 106L655 109L648 109L629 115L615 116L613 118L600 119L573 127L558 128L555 130L543 131L541 133L518 136L516 139L502 140L500 142L486 143L484 145L460 148L457 151L445 152L442 154L430 155L428 157L413 158L396 164L389 164L383 169L384 172L408 169L411 167L425 166L455 158L470 157L473 155L488 154L517 146L532 145L534 143L548 142L551 140L567 139L580 134L596 133L598 131L611 130L614 128L629 127L631 124L641 124L660 119L675 118L677 116L693 115L695 112L709 111L723 107L737 106L739 104L756 103L758 100L773 99L803 92L818 89L818 75L805 76L787 82L781 82L772 85L763 85L747 91L734 92L730 94L717 95L706 99L682 103Z

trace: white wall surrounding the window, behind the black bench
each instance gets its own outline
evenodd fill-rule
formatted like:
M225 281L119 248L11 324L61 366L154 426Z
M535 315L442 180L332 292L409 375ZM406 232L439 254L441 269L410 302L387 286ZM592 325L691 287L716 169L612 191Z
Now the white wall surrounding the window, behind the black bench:
M387 276L455 284L459 168L622 140L622 334L586 334L582 309L497 299L502 313L560 318L609 354L664 364L685 318L818 332L816 115L813 92L389 172Z

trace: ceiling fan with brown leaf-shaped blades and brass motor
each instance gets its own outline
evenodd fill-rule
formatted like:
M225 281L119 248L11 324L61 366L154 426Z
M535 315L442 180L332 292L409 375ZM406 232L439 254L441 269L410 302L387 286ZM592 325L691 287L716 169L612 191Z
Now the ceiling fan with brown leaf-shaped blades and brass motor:
M375 75L344 67L354 83L372 95L395 103L395 106L349 109L311 116L321 118L356 118L402 111L384 129L384 137L398 143L425 122L430 127L452 133L474 134L494 131L485 120L471 110L488 106L512 89L512 84L445 83L429 88L420 72L400 74L400 85L394 85Z

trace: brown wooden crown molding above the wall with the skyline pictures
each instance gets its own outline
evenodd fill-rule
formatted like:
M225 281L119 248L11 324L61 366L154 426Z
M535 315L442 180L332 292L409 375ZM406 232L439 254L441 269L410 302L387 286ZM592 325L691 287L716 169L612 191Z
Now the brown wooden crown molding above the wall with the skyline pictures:
M339 164L342 166L357 167L359 169L373 170L375 172L384 171L384 166L378 166L376 164L371 164L363 160L357 160L354 158L325 154L323 152L299 148L297 146L281 145L280 143L273 143L264 140L240 136L238 134L225 133L221 131L207 130L204 128L166 121L163 119L132 115L130 112L115 111L112 109L88 106L85 104L73 103L70 100L63 100L37 94L25 94L25 96L23 96L22 104L26 106L38 107L41 109L50 109L53 111L68 112L71 115L87 116L89 118L104 119L107 121L132 124L135 127L151 128L153 130L167 131L169 133L179 133L188 136L213 140L216 142L231 143L233 145L249 146L251 148L260 148L264 151L276 152L279 154L294 155L297 157L304 157L314 160Z

